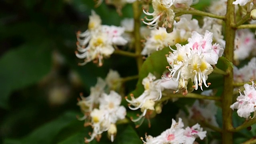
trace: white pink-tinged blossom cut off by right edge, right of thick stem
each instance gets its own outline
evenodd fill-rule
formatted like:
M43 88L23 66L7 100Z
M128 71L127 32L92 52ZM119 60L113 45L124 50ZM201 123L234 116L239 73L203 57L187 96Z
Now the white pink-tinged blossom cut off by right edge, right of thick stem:
M248 118L251 114L251 112L254 112L254 116L256 115L255 107L256 107L256 87L251 80L252 85L244 84L244 94L242 94L240 91L240 96L236 98L237 102L232 104L230 108L232 110L237 109L237 114L240 117Z

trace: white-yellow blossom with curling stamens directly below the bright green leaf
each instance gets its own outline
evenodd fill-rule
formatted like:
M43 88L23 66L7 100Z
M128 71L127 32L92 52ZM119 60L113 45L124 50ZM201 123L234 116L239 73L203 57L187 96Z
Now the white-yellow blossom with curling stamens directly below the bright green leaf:
M145 90L140 96L134 98L133 94L131 94L131 100L126 97L126 101L129 102L128 106L131 110L138 110L140 108L142 114L140 114L138 118L132 119L133 122L138 122L143 118L140 124L142 124L145 116L149 118L154 112L156 101L162 98L162 91L164 89L173 90L178 86L178 82L166 82L163 78L156 80L156 76L149 73L148 76L142 80L142 84ZM140 124L137 125L137 127L140 126Z

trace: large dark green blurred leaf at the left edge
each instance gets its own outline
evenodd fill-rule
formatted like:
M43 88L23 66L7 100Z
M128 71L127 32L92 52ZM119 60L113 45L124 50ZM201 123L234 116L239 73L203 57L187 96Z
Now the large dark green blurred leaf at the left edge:
M50 71L50 44L49 41L27 43L0 58L0 107L8 107L13 90L38 82Z

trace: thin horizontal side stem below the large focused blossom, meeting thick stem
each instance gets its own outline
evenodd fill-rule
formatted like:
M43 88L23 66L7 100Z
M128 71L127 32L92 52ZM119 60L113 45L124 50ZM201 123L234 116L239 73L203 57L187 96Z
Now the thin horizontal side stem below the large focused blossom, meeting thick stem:
M186 96L182 94L171 94L168 96L163 96L160 101L166 101L166 100L169 100L170 98L197 98L197 99L220 101L220 97L217 97L217 96L203 96L203 95L194 94L194 93L188 93Z

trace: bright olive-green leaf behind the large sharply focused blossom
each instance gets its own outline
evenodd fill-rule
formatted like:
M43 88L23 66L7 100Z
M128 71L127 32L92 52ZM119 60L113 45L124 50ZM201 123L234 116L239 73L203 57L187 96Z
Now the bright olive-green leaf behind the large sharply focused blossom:
M169 51L170 48L164 48L162 50L154 52L142 64L141 71L139 72L139 79L136 85L136 89L132 92L132 94L134 94L135 97L143 93L144 87L142 85L142 80L143 78L148 76L148 73L151 72L156 77L160 78L163 72L167 70L166 66L169 66L169 64L166 60L165 55L168 54Z

